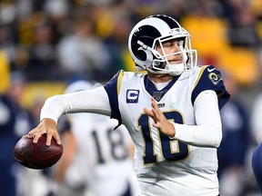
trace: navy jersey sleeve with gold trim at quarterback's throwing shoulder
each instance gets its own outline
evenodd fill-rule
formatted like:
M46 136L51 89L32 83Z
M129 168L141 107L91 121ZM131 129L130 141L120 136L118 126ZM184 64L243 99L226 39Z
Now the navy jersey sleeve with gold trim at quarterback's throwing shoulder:
M118 107L118 91L123 75L124 71L119 71L108 83L104 85L111 107L111 118L118 120L118 125L122 123L122 118Z

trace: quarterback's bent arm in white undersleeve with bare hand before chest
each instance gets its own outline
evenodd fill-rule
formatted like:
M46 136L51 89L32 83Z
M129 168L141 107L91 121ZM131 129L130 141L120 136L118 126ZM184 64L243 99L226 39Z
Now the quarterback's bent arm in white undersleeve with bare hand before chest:
M218 147L222 139L220 113L217 94L214 91L204 91L196 98L196 125L186 125L169 122L158 108L154 98L152 109L144 108L144 113L154 119L153 126L171 139L186 142L196 146Z

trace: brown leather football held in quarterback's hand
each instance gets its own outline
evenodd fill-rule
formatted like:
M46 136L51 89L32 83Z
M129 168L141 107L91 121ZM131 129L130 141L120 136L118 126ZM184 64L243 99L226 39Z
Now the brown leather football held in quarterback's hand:
M52 138L50 146L45 145L46 134L43 134L37 143L33 138L24 135L14 147L14 157L27 168L40 170L51 167L61 158L63 146L58 145Z

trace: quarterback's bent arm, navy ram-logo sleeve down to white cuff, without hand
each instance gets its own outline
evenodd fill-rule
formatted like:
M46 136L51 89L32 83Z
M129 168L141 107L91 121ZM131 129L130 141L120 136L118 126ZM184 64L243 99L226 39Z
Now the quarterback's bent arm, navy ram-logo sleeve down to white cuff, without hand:
M196 125L173 122L174 138L191 145L218 147L222 140L219 110L228 99L221 73L214 66L203 67L191 97Z

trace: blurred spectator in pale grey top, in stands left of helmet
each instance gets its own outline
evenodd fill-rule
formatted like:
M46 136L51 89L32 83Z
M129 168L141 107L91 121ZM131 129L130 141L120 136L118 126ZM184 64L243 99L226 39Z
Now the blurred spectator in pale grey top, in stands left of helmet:
M110 56L102 40L94 34L92 19L85 12L77 12L73 34L68 34L58 44L58 62L65 77L80 75L99 80L101 74L110 71Z

